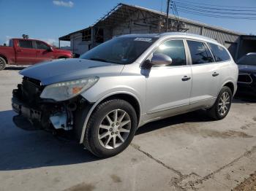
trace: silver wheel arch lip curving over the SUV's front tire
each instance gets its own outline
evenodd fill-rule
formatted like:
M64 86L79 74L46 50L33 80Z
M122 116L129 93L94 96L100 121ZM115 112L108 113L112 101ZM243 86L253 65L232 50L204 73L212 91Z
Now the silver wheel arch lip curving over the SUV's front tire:
M91 113L94 112L95 107L96 107L102 100L104 100L105 98L108 98L108 97L110 97L111 95L118 95L118 94L132 95L132 97L134 97L134 98L138 101L139 106L140 106L140 111L142 111L142 110L141 110L140 101L139 101L139 99L137 98L137 96L134 95L133 93L129 93L129 92L126 92L126 91L116 91L116 92L113 92L113 93L109 93L109 94L103 96L102 98L99 98L99 99L94 103L94 105L91 106L91 109L89 110L88 114L86 115L86 120L85 120L85 122L84 122L84 124L83 124L83 130L82 130L82 133L81 133L81 136L80 136L80 144L83 143L83 138L84 138L84 134L86 133L87 123L88 123L88 121L89 121L89 118L91 117Z

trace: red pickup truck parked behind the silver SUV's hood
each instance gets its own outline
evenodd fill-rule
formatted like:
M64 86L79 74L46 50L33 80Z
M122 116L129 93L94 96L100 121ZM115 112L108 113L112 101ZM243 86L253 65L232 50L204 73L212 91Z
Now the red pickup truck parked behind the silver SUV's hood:
M28 65L59 58L72 58L72 52L36 39L10 39L9 46L0 46L0 70L7 64Z

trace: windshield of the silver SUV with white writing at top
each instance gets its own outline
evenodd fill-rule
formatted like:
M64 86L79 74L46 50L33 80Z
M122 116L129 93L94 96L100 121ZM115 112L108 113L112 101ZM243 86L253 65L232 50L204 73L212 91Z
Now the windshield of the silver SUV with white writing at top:
M156 38L118 37L94 47L80 58L128 64L134 62L155 41Z

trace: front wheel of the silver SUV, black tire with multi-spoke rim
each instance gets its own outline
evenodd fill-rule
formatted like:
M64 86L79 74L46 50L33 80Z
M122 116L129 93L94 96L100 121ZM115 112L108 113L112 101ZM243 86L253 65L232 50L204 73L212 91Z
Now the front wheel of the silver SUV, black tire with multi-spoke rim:
M112 157L129 146L136 130L137 116L131 104L121 99L105 101L91 114L83 144L97 157Z

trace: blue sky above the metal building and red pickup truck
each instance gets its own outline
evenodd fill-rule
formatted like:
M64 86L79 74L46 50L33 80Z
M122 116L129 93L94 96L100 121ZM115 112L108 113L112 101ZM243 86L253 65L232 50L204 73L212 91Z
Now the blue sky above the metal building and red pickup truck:
M256 0L184 0L222 6L255 7ZM230 4L232 2L232 4ZM166 0L0 0L0 44L28 34L30 38L59 44L59 37L93 25L118 3L165 12ZM224 8L224 7L222 7ZM256 20L233 20L178 12L181 17L244 34L256 34ZM67 43L61 43L61 46Z

